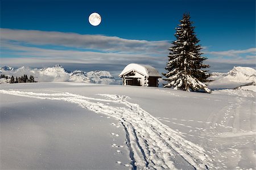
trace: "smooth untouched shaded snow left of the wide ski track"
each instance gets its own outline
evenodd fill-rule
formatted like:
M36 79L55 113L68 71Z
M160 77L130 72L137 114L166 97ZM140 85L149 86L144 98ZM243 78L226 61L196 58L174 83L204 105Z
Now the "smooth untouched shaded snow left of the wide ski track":
M0 169L130 168L118 120L64 101L4 94L0 99Z

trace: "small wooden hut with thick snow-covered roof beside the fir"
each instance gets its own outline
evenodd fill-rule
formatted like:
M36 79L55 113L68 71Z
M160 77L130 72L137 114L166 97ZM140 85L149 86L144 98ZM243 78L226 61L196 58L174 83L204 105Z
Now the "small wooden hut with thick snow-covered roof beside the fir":
M119 77L123 79L123 85L158 87L158 78L162 76L150 65L130 63Z

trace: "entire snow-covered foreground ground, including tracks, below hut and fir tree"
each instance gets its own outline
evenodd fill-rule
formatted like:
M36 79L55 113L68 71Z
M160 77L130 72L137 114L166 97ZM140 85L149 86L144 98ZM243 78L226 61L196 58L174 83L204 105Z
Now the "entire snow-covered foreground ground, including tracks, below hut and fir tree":
M256 165L253 91L20 83L0 99L1 169Z

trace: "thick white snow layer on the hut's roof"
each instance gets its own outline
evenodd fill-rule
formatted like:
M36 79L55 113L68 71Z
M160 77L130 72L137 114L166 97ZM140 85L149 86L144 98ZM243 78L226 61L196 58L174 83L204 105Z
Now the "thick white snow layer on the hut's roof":
M158 70L156 70L154 67L150 66L150 65L139 65L137 63L130 63L129 65L127 65L125 67L125 69L123 69L122 73L119 74L119 77L121 77L122 75L125 75L127 73L129 73L130 71L137 71L138 73L141 73L145 76L158 76L158 77L162 77L159 73Z

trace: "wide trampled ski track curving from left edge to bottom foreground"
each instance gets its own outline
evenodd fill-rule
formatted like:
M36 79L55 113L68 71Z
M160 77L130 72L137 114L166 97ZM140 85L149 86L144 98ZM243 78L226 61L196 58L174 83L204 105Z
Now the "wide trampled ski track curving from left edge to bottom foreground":
M187 141L177 131L162 124L157 118L144 111L138 104L127 101L127 96L100 94L105 99L97 99L68 92L46 94L0 90L0 93L67 101L90 111L117 118L126 131L126 143L130 151L133 169L213 168L212 160L204 148ZM121 104L123 107L113 106L109 103ZM117 136L116 134L112 135ZM113 144L112 146L117 145ZM121 162L117 163L121 164Z

